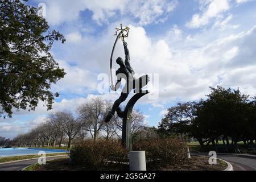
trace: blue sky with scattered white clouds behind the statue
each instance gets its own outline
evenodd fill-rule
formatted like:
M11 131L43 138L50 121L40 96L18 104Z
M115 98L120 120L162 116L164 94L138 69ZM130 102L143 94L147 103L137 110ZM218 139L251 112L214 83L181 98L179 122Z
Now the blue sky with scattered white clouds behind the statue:
M75 113L95 97L116 100L120 90L101 92L101 78L109 82L114 28L120 23L130 27L126 42L131 66L151 76L151 93L135 105L143 111L145 125L157 126L177 102L204 98L210 86L240 88L256 96L255 0L28 1L39 3L46 5L50 30L67 39L51 49L67 75L52 85L52 92L60 93L53 110L42 102L35 111L14 109L13 118L0 118L0 136L12 139L44 122L47 114ZM125 57L121 41L113 60L118 56ZM113 67L118 68L115 61Z

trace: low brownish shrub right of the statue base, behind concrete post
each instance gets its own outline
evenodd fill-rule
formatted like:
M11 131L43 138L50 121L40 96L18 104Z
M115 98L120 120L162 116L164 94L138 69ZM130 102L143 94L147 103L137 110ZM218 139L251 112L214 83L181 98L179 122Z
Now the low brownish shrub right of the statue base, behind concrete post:
M187 160L187 148L177 138L141 140L134 142L133 150L144 150L147 163L155 167L174 166Z

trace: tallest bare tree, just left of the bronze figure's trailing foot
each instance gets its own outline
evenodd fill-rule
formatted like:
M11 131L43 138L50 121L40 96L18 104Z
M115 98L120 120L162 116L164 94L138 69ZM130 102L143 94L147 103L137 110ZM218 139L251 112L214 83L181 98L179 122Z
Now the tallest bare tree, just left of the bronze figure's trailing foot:
M108 104L101 98L93 98L90 101L85 102L77 108L79 118L86 123L87 131L89 131L95 142L104 126L104 119L108 112Z

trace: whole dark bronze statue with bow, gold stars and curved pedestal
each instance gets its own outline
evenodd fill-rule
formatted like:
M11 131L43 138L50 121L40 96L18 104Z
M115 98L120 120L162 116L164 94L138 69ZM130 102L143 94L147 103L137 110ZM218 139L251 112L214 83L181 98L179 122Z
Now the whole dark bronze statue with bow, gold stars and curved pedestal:
M126 81L125 86L122 89L121 96L114 102L112 106L112 110L109 111L108 115L105 118L105 122L108 123L113 115L115 114L115 111L118 114L118 117L123 118L123 127L122 127L122 144L125 145L129 151L132 150L131 146L131 130L130 130L130 122L131 122L131 111L133 110L133 106L135 102L139 100L142 96L148 93L147 90L142 90L144 86L147 85L148 81L150 81L148 75L144 75L140 78L134 77L134 70L130 65L130 53L129 49L127 48L127 43L125 42L125 38L128 37L129 34L129 28L125 27L122 28L116 28L115 35L117 36L117 39L115 40L111 59L110 59L110 75L111 75L111 81L112 85L110 86L110 89L113 91L117 91L121 86L121 80L122 78ZM120 32L119 32L120 31ZM119 32L119 34L117 34ZM122 60L121 57L118 57L116 60L116 63L119 65L119 69L115 73L117 75L117 82L114 85L113 84L113 77L112 77L112 57L113 52L115 48L115 44L117 43L118 39L122 39L123 47L125 49L125 61ZM131 90L134 89L135 96L133 96L128 104L125 107L125 110L122 111L119 105L126 100L126 98L129 96L129 93Z

